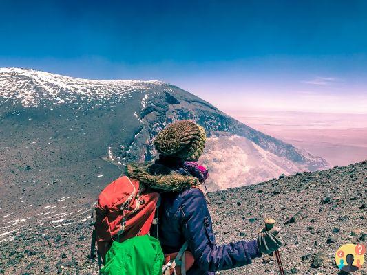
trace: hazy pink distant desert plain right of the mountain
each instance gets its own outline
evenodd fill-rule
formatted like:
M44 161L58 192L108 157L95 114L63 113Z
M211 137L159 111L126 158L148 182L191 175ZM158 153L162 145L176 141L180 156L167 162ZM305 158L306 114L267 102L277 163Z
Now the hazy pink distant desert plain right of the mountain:
M227 111L258 131L324 157L332 166L367 159L367 114Z

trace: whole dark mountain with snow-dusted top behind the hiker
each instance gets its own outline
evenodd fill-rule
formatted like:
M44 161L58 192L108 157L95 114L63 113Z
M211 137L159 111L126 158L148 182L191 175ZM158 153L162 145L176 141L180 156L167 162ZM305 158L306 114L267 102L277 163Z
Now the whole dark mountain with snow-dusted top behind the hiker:
M154 158L156 133L182 119L207 130L201 161L209 166L211 190L328 168L324 159L251 129L174 85L1 68L0 188L17 186L21 194L24 184L32 183L35 192L52 186L58 197L87 184L101 189L127 162Z

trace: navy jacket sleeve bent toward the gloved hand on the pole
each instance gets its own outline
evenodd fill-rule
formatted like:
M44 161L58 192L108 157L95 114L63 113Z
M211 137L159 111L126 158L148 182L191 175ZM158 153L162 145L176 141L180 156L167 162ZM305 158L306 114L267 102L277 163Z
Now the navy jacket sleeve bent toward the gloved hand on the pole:
M214 272L239 267L261 256L256 241L216 245L207 201L201 190L191 188L183 195L181 214L182 233L202 270Z

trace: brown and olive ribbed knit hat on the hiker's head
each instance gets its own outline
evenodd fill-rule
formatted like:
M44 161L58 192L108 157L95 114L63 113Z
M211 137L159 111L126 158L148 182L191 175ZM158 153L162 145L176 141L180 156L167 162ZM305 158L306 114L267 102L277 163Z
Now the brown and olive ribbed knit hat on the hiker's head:
M158 153L184 160L197 160L205 147L205 130L190 120L169 124L158 133L154 146Z

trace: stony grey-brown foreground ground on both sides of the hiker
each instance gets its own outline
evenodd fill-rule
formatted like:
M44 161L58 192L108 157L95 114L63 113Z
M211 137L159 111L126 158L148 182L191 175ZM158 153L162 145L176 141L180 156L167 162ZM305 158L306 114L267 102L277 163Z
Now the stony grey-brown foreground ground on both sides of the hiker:
M282 228L286 274L338 274L333 258L345 243L366 244L367 162L298 173L252 186L210 192L218 243L254 239L265 217ZM92 201L90 201L92 203ZM98 274L87 258L92 208L72 197L45 200L39 209L6 210L1 217L0 273ZM4 231L6 230L6 231ZM221 274L278 274L269 256ZM339 273L342 274L342 273ZM367 265L361 272L367 274Z

